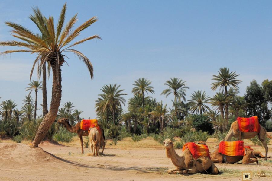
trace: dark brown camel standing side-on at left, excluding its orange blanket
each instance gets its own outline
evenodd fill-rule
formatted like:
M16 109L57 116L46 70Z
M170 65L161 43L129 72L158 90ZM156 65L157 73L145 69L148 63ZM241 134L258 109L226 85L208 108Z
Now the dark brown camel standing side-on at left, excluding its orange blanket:
M69 132L76 133L79 136L80 143L81 143L81 154L83 154L84 150L83 150L83 138L82 138L82 136L88 136L88 131L84 131L84 130L80 129L80 122L76 123L76 125L72 127L67 118L61 118L57 122L60 123L60 124L63 124L65 126L65 128ZM102 150L102 153L103 153L104 148L105 148L105 141L104 141L105 136L104 136L104 130L102 128L100 128L100 129L101 129L101 132L100 132L100 145L103 146L103 150Z

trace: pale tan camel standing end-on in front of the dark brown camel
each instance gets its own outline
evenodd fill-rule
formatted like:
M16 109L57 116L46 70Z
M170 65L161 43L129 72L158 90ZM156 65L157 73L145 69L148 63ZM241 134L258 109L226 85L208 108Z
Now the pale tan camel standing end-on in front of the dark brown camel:
M100 149L100 133L94 127L89 129L89 140L90 140L90 148L93 153L93 156L99 156L98 151Z

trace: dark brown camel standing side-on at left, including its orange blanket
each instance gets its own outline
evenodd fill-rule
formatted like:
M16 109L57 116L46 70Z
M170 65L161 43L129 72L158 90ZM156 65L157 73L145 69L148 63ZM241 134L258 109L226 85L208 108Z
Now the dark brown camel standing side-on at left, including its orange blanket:
M65 126L65 128L72 133L77 133L77 135L79 136L80 139L80 143L81 143L81 153L84 153L83 150L83 138L82 136L88 136L89 133L89 128L91 126L92 123L95 123L98 127L99 130L101 130L100 133L100 145L103 146L103 150L102 153L104 151L105 148L105 135L104 135L104 130L102 128L100 128L97 119L83 119L81 120L81 122L76 123L75 126L71 126L68 119L67 118L61 118L57 121L60 124L63 124Z

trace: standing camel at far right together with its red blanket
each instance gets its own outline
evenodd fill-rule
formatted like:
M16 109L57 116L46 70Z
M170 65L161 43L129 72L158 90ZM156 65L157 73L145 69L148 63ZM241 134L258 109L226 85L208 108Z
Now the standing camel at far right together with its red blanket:
M265 129L259 124L257 116L252 116L250 118L238 117L231 125L227 136L224 141L231 141L232 137L241 139L251 139L258 135L259 140L262 142L265 148L265 159L267 160L268 147L266 143L266 137L272 138L267 135Z

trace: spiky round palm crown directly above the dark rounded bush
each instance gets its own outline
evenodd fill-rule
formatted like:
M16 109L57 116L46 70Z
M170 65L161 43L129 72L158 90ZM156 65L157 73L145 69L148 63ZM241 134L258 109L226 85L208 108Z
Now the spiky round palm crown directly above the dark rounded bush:
M206 96L205 91L202 93L201 90L195 91L191 95L191 99L188 100L189 105L191 106L190 110L194 113L200 112L202 113L206 112L207 110L210 110L210 108L206 105L209 103L210 98Z

